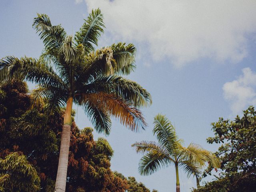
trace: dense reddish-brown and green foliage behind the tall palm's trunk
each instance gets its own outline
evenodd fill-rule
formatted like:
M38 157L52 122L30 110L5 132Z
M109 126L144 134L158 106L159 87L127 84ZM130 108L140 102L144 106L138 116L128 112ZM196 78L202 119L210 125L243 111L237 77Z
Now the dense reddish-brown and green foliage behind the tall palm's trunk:
M44 103L31 108L33 100L20 81L4 84L0 98L0 189L28 191L26 186L33 186L32 192L40 184L41 192L54 191L63 111L49 115ZM111 171L113 150L108 142L94 141L92 128L79 130L74 121L71 129L66 191L124 192L128 182Z

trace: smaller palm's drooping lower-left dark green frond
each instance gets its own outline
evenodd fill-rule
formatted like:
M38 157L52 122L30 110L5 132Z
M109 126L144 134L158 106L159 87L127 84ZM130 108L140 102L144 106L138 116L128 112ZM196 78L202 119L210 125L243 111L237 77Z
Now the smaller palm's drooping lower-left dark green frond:
M150 175L171 163L172 161L162 153L150 151L140 159L138 172L141 175Z

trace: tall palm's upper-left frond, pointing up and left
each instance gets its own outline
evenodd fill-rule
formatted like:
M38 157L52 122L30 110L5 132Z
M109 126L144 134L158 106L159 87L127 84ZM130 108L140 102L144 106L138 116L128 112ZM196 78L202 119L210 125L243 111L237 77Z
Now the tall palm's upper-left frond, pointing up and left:
M46 14L37 14L37 16L34 18L33 28L39 33L48 53L57 57L66 38L66 32L60 25L52 26L50 18Z

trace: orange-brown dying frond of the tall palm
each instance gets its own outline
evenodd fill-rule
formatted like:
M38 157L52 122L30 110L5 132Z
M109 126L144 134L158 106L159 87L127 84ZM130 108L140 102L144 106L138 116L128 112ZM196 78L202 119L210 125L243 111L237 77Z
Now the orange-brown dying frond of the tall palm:
M138 131L140 128L144 130L147 126L140 110L113 94L104 92L76 94L74 102L94 104L97 108L108 112L110 116L119 119L122 124L132 131Z

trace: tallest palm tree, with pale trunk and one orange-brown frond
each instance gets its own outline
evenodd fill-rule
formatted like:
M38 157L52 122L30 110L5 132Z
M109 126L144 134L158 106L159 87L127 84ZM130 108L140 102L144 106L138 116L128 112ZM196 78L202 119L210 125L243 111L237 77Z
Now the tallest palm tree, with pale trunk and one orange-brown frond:
M136 48L117 43L95 50L104 32L99 9L83 26L68 36L60 26L53 26L46 14L34 18L33 27L44 42L39 59L7 56L0 60L0 80L22 78L38 84L32 92L35 102L46 100L46 110L66 107L61 136L56 192L66 188L72 104L82 106L96 131L108 135L110 117L120 120L132 131L145 129L146 122L138 108L151 104L150 94L134 81L119 75L134 71Z

